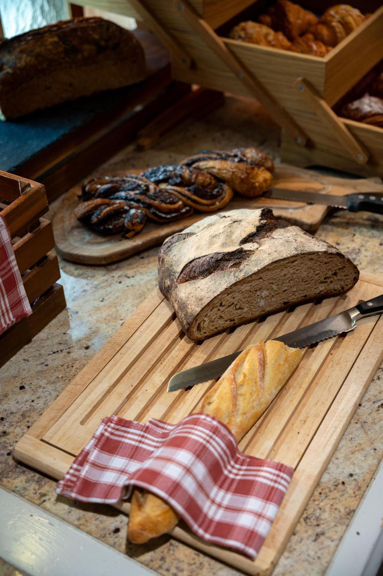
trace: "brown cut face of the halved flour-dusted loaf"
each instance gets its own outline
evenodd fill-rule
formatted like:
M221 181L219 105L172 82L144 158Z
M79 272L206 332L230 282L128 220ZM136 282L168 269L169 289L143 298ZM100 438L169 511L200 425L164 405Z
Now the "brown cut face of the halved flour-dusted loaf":
M356 268L339 254L315 252L279 260L218 294L197 314L189 332L193 340L204 340L288 306L343 294L357 279Z

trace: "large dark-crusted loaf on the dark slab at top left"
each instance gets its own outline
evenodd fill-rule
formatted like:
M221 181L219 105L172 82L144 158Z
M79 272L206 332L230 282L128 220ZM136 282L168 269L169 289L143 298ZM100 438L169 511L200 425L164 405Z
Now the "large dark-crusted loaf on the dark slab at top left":
M0 41L0 118L145 77L145 55L128 30L103 18L74 18Z

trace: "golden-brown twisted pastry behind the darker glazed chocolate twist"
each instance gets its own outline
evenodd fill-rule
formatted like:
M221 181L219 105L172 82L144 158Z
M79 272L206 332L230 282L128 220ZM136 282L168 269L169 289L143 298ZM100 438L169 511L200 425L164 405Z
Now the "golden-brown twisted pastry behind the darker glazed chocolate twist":
M203 150L183 160L181 165L208 172L248 198L259 196L270 187L274 170L273 160L258 148Z

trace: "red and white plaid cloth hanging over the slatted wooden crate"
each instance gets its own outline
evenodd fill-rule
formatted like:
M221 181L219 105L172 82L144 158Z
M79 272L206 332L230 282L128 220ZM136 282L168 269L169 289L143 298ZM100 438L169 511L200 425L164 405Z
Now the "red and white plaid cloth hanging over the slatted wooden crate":
M0 334L29 314L32 310L16 264L9 230L0 214Z

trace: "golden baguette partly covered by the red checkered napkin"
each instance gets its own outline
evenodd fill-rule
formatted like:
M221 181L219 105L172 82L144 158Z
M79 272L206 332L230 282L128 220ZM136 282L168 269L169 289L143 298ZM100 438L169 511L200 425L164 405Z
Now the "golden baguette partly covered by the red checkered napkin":
M278 340L248 346L204 396L194 412L219 418L239 441L265 412L302 357ZM169 532L179 520L170 506L146 491L133 492L128 537L143 544Z

